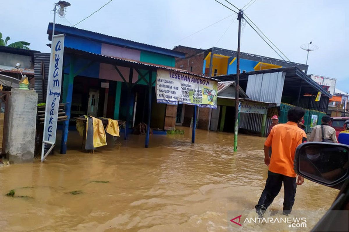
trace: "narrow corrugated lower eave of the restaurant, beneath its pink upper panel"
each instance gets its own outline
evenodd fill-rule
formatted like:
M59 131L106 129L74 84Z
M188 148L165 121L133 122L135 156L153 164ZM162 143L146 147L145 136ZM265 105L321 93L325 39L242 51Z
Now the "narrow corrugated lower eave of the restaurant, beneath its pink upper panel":
M166 70L170 70L170 71L175 71L175 72L180 72L180 73L192 75L192 76L195 76L195 77L201 77L201 78L205 78L205 79L209 79L209 80L213 80L213 81L219 81L219 80L211 78L211 77L206 77L206 76L203 76L203 75L199 75L199 74L196 74L196 73L193 73L193 72L189 72L189 71L184 70L184 69L179 69L179 68L176 68L176 67L170 67L170 66L165 66L165 65L160 65L160 64L153 64L153 63L147 63L147 62L141 62L141 61L135 61L135 60L132 60L132 59L125 59L125 58L119 58L119 57L113 57L113 56L105 56L105 55L101 55L101 54L91 53L91 52L77 50L77 49L68 48L68 47L64 47L64 49L65 49L65 52L67 52L67 53L73 53L73 54L77 54L77 55L80 54L82 56L85 55L84 58L86 58L86 55L92 56L92 57L94 57L96 59L98 59L99 57L103 57L103 58L109 59L111 62L112 61L121 61L121 62L123 62L125 64L127 64L127 63L128 64L136 64L136 65L140 66L140 68L142 68L142 67L143 68L151 67L151 68L154 68L154 69L166 69ZM116 64L116 65L119 65L119 64ZM122 66L122 65L120 65L120 66Z

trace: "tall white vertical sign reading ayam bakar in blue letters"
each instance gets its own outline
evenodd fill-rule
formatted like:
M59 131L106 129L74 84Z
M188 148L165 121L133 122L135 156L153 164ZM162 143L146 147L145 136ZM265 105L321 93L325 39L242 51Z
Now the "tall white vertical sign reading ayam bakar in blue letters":
M41 150L41 162L44 162L47 155L56 145L58 107L62 85L63 48L64 34L53 35L51 44L49 79L47 81L46 91L46 110L44 121L44 135ZM51 145L46 154L44 154L45 144Z

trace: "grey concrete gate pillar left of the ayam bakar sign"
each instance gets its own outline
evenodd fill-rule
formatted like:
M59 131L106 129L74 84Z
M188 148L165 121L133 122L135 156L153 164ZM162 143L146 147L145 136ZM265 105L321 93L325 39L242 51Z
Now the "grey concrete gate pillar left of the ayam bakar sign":
M12 89L8 104L5 139L10 163L32 162L35 150L38 94L34 90Z

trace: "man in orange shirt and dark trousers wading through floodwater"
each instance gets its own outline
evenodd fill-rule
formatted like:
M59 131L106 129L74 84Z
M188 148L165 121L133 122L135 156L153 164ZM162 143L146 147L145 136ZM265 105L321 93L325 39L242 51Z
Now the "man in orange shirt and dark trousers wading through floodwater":
M288 122L275 125L264 144L264 162L269 166L268 178L265 188L255 206L259 217L263 217L268 206L279 194L284 184L283 214L291 213L295 202L296 186L304 182L303 177L298 176L293 167L295 151L299 144L306 142L306 134L297 124L303 119L305 111L301 107L293 107L287 113ZM269 157L269 149L272 147L272 157ZM297 185L296 185L297 184Z

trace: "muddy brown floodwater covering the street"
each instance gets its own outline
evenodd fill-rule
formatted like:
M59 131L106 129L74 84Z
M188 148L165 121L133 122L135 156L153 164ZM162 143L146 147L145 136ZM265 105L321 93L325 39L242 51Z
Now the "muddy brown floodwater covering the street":
M133 135L127 151L118 139L95 154L83 152L81 137L71 132L66 155L0 168L0 230L227 231L227 212L253 212L263 190L265 139L239 135L234 153L233 134L197 130L191 144L189 128L181 129L185 135L151 135L148 149L144 136ZM12 189L31 198L6 197ZM294 210L317 211L320 218L337 193L306 180ZM269 210L280 211L282 201L283 190ZM308 231L315 223L307 222ZM248 226L272 231L267 224Z

